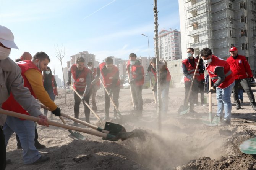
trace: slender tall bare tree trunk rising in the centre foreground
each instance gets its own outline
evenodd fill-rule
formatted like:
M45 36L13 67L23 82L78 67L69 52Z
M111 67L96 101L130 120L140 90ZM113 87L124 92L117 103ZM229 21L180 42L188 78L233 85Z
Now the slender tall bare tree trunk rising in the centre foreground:
M158 49L158 16L157 16L157 0L154 0L154 19L155 19L155 47L156 47L156 72L157 72L157 114L158 114L158 129L159 131L162 129L161 123L161 87L160 87L160 73L159 73L159 49Z

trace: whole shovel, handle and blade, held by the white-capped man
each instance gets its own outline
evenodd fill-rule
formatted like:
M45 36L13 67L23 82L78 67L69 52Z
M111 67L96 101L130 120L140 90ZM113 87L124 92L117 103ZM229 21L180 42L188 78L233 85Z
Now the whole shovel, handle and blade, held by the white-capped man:
M13 116L13 117L16 117L16 118L26 119L26 120L34 121L34 122L39 121L39 118L37 118L37 117L29 116L29 115L21 114L21 113L16 113L16 112L13 112L13 111L3 110L3 109L0 109L0 114L6 114L8 116ZM126 138L124 138L125 135L122 135L122 133L117 135L117 136L114 136L114 135L110 135L110 134L106 134L106 133L102 133L102 132L87 130L87 129L83 129L81 127L71 126L71 125L58 123L58 122L54 122L54 121L49 121L49 120L48 120L48 124L52 125L52 126L62 127L62 128L65 128L65 129L75 130L75 131L78 131L78 132L83 132L83 133L87 133L87 134L90 134L90 135L102 137L103 140L118 141L119 139L121 139L121 140L126 139ZM128 133L128 134L126 134L126 136L129 137L129 136L131 136L131 134Z

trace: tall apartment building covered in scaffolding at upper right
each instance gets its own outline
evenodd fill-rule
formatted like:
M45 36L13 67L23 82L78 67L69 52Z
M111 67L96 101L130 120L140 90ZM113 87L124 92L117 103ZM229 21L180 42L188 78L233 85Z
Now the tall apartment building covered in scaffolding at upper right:
M207 47L227 59L235 46L255 75L256 0L179 0L179 11L183 52L192 47L197 56Z

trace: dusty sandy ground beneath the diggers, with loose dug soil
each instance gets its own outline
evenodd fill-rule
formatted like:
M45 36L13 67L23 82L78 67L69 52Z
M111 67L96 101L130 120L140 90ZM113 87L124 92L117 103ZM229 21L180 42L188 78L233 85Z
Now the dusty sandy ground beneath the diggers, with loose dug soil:
M253 90L255 91L255 87ZM183 103L184 88L170 89L169 111L161 121L159 131L156 107L151 89L143 89L143 117L137 118L131 112L133 105L129 89L120 89L119 108L123 115L122 124L127 132L141 129L142 134L127 140L108 141L93 135L83 134L85 140L71 138L66 129L38 126L39 142L47 148L41 149L42 155L50 156L50 161L36 165L23 165L22 149L16 147L13 135L7 146L7 157L12 163L7 170L253 170L256 169L256 156L243 154L238 145L256 134L256 111L252 110L244 93L241 110L232 106L232 121L229 126L206 126L202 116L208 116L209 107L195 106L196 114L178 115ZM67 91L65 105L64 89L55 103L62 112L73 116L73 92ZM206 95L206 94L205 94ZM200 96L200 94L199 94ZM208 101L209 97L207 96ZM97 92L97 114L104 117L104 93ZM233 103L233 97L232 97ZM216 112L216 95L212 95L213 113ZM43 110L42 110L43 111ZM50 114L48 113L50 118ZM113 117L113 105L110 105ZM85 120L83 104L80 105L79 118ZM61 122L54 116L53 121ZM70 125L73 121L65 119ZM91 113L91 123L104 128ZM88 129L83 125L79 125Z

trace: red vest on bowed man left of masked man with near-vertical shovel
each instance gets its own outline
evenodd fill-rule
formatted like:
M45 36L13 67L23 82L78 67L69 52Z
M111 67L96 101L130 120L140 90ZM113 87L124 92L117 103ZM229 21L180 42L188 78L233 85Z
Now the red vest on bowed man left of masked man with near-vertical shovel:
M103 84L105 87L110 87L110 85L112 84L112 81L113 81L113 76L118 72L118 68L113 65L112 71L110 73L107 73L107 75L104 75L104 73L102 71L102 68L104 68L104 66L105 66L105 62L103 62L99 65L100 73L103 77ZM120 79L118 79L116 85L117 86L120 85Z

